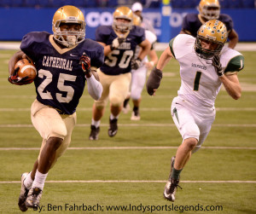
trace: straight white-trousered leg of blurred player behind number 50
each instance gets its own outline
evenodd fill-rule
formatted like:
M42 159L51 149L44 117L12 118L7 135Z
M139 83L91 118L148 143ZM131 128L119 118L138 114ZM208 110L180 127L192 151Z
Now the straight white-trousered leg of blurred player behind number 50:
M133 102L131 120L141 119L139 106L142 101L142 92L146 82L146 75L147 68L144 66L131 73L131 99Z

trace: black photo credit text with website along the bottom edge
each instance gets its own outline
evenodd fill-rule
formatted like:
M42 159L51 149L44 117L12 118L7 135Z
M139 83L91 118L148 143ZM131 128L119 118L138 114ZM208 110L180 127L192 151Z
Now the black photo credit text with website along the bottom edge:
M63 204L63 205L39 205L38 209L35 211L38 212L47 212L47 211L86 211L95 212L95 211L141 211L143 212L155 212L155 211L223 211L224 208L222 205L86 205L86 204Z

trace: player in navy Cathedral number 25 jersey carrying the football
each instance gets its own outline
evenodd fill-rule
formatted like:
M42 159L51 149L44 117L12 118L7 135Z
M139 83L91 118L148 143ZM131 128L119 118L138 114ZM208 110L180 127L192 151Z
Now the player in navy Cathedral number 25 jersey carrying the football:
M84 14L76 7L63 6L53 17L48 32L29 32L21 41L20 51L9 61L9 82L28 84L17 77L15 63L32 60L38 74L34 79L37 99L32 103L32 124L43 138L38 159L30 173L21 176L20 211L37 209L48 171L67 150L76 124L76 107L84 91L94 100L102 95L96 69L104 61L102 45L85 37ZM19 68L18 68L19 69Z

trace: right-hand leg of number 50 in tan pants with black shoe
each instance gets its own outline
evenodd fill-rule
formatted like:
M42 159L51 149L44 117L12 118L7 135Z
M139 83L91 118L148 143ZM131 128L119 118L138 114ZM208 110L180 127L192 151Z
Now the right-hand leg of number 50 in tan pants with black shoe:
M122 110L125 97L129 92L131 73L124 73L113 77L109 86L110 117L108 136L115 136L118 131L119 113Z

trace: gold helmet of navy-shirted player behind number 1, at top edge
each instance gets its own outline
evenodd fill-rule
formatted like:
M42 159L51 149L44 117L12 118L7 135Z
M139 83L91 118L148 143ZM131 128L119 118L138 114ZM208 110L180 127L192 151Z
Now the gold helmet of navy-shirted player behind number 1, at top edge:
M198 7L201 17L207 20L217 20L220 14L218 0L201 0Z

